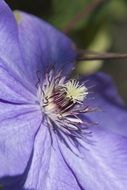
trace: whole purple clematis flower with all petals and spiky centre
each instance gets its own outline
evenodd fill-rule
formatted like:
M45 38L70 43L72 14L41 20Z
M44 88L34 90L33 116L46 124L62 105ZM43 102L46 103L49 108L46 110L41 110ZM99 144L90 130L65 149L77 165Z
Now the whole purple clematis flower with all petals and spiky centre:
M126 108L105 74L70 78L76 56L64 34L0 1L4 190L125 190Z

